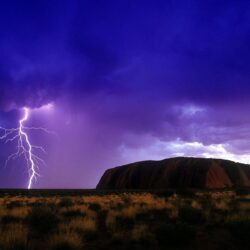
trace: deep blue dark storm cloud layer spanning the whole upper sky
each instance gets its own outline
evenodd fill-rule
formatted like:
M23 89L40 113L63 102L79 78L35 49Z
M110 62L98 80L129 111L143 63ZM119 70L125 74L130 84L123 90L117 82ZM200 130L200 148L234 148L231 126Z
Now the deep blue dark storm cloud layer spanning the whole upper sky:
M210 103L250 92L245 1L10 2L1 8L1 100L41 105L104 89Z

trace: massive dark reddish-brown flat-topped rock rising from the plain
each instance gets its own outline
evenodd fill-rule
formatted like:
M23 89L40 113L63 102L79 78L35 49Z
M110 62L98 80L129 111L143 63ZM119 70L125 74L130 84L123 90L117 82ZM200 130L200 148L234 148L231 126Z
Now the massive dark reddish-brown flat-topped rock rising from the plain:
M105 171L97 189L250 187L250 165L177 157L136 162Z

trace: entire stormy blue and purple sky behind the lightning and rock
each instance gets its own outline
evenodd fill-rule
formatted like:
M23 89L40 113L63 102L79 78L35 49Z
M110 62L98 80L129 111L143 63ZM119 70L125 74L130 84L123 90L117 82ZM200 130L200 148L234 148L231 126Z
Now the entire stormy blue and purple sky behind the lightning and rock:
M131 161L250 162L249 1L0 3L0 126L33 109L47 165L35 188L93 188ZM50 110L44 105L53 104ZM0 142L0 187L26 187Z

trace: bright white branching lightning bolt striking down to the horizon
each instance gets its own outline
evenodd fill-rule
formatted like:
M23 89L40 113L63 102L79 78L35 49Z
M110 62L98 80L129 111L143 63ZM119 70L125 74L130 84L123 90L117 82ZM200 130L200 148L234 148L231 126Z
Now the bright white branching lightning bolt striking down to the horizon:
M8 156L5 166L8 165L10 160L15 160L18 157L24 157L27 163L28 168L28 185L27 188L31 189L34 181L36 181L39 176L39 166L46 165L45 161L39 157L37 150L46 153L45 149L41 146L33 145L30 142L30 138L27 131L30 130L40 130L45 133L54 134L45 128L42 127L26 127L24 126L25 122L29 119L30 109L23 108L23 117L19 120L18 128L3 128L0 127L0 140L3 140L5 143L17 141L17 151Z

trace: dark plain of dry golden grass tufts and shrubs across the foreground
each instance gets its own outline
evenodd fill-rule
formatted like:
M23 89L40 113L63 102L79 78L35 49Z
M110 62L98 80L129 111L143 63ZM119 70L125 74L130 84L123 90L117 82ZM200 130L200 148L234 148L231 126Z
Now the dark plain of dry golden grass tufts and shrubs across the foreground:
M250 195L0 193L0 250L40 249L250 249Z

